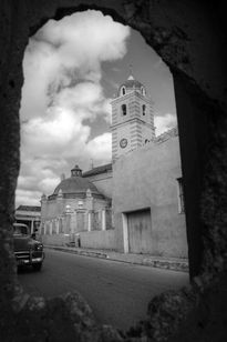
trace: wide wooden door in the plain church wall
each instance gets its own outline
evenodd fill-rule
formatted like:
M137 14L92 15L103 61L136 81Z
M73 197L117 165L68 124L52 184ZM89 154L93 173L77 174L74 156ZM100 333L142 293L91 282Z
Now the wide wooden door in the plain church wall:
M151 210L134 211L127 214L128 243L131 253L152 251Z

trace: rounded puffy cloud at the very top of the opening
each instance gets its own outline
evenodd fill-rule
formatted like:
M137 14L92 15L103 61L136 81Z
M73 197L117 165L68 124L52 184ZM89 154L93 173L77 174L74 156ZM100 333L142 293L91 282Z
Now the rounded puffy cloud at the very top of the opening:
M87 69L99 61L122 58L126 52L124 40L128 31L111 17L90 10L61 21L50 20L37 37L56 47L61 56L66 57L63 59L68 67L74 67L75 57L78 64Z

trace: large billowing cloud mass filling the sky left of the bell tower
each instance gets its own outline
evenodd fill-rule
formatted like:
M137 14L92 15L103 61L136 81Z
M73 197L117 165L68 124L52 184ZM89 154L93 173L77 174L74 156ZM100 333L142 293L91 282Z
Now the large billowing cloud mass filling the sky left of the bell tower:
M110 122L101 64L124 57L128 36L128 27L86 11L50 20L30 39L23 60L19 204L52 193L59 175L78 160L110 161L110 133L91 140L84 120Z

